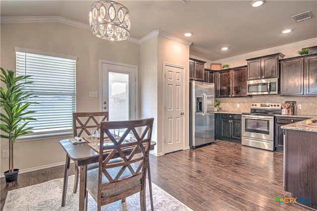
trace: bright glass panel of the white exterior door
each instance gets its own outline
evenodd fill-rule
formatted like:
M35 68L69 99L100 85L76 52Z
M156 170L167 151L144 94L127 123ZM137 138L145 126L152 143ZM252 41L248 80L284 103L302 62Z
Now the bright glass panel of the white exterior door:
M108 72L109 120L129 120L129 74Z

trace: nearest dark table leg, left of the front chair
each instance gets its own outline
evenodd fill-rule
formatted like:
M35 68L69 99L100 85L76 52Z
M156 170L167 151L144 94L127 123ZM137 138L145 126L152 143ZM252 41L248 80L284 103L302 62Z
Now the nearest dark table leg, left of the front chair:
M87 193L87 166L80 168L79 183L79 211L87 211L88 193Z

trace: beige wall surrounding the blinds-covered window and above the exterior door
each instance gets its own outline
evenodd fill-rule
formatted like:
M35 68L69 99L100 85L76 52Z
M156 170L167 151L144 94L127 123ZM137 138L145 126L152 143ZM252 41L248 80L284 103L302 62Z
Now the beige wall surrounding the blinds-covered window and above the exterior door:
M99 91L99 60L140 64L140 45L132 42L109 42L90 31L62 23L1 24L0 66L15 70L14 47L77 56L77 111L99 111L99 97L89 97L89 91ZM99 94L98 94L99 96ZM66 138L66 137L65 137ZM1 140L0 151L8 149ZM20 170L41 168L65 161L59 139L16 142L14 167ZM8 158L0 158L0 173L8 169Z

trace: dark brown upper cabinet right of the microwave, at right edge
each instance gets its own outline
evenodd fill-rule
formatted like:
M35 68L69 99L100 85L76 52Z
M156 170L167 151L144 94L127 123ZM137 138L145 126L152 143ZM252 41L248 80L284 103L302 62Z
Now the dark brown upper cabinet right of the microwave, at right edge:
M317 54L280 60L281 95L317 95Z

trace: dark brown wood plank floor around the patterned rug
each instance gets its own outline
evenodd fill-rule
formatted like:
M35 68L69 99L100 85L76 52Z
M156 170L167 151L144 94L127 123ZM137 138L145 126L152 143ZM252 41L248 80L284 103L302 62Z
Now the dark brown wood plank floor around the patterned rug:
M290 197L283 188L283 153L227 141L198 149L150 157L152 182L194 211L307 211L275 202ZM18 182L1 178L1 211L8 190L63 177L64 167L19 174ZM73 174L73 165L71 172Z

